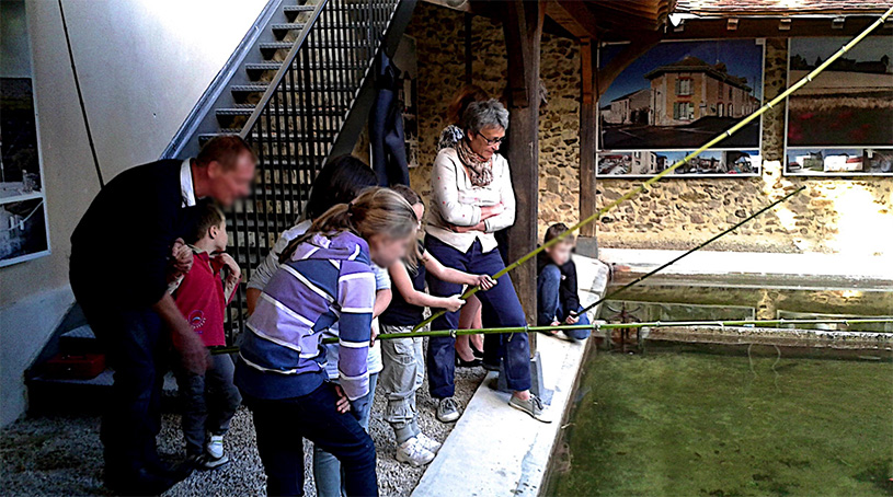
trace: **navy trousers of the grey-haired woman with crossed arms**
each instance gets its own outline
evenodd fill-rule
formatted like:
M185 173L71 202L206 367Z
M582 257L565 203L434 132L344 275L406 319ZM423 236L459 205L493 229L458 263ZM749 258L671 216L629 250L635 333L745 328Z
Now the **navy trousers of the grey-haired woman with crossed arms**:
M493 275L505 265L497 250L481 252L481 243L474 241L468 252L459 252L434 236L425 236L425 248L444 266L473 275ZM428 276L428 288L436 297L460 293L461 285L440 281ZM526 326L527 320L520 307L512 278L504 275L499 285L488 291L477 293L481 300L481 319L486 327ZM432 330L456 330L459 327L459 311L447 312L434 320ZM449 336L428 339L427 369L428 389L435 398L451 397L455 393L456 338ZM494 359L505 361L505 379L508 389L516 392L530 389L530 345L526 333L486 335L484 350Z

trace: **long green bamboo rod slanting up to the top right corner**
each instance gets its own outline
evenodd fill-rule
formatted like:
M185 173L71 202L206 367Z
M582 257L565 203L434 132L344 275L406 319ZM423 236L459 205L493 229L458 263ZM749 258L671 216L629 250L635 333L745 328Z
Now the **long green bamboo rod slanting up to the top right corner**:
M657 173L656 175L654 175L653 177L651 177L651 178L649 178L648 181L643 182L641 185L637 186L636 188L632 188L631 190L629 190L629 192L627 192L626 194L621 195L619 198L617 198L616 200L611 201L611 203L610 203L610 204L608 204L607 206L603 207L603 208L602 208L602 209L599 209L597 212L593 213L592 216L589 216L589 217L587 217L587 218L585 218L585 219L581 220L581 221L580 221L580 222L577 222L576 224L572 226L571 228L569 228L569 229L568 229L568 231L563 232L562 234L560 234L560 235L558 235L558 236L553 238L552 240L550 240L550 241L548 241L548 242L543 243L543 244L542 244L542 245L540 245L539 247L534 248L533 251L528 252L526 255L522 256L520 258L518 258L518 259L517 259L517 261L515 261L514 263L510 264L508 266L506 266L505 268L503 268L502 270L500 270L500 271L499 271L499 273L496 273L495 275L492 275L491 277L492 277L493 279L499 279L499 278L501 278L502 276L506 275L506 274L507 274L508 271L511 271L512 269L515 269L516 267L518 267L518 266L520 266L522 264L526 263L527 261L531 259L533 257L535 257L535 256L536 256L537 254L539 254L540 252L542 252L542 251L545 251L546 248L549 248L550 246L552 246L552 245L554 245L554 244L559 243L559 242L560 242L561 240L563 240L565 236L570 236L570 235L571 235L571 234L572 234L574 231L577 231L577 230L580 230L581 228L583 228L583 227L585 227L585 226L587 226L587 224L592 223L593 221L595 221L596 219L599 219L602 216L604 216L606 212L608 212L609 210L614 209L614 208L615 208L615 207L617 207L618 205L620 205L620 204L622 204L622 203L625 203L625 201L629 200L630 198L634 197L636 195L639 195L639 194L640 194L640 193L642 193L642 192L643 192L643 190L644 190L644 189L645 189L648 186L650 186L650 185L652 185L652 184L654 184L654 183L656 183L656 182L659 182L659 181L663 180L663 178L664 178L666 175L672 174L674 171L676 171L677 169L679 169L679 167L680 167L683 164L687 163L687 162L688 162L688 161L690 161L691 159L695 159L696 157L698 157L699 154L701 154L703 151L706 151L706 150L710 149L711 147L715 146L717 143L719 143L720 141L724 140L725 138L731 137L732 135L734 135L735 132L737 132L737 131L739 131L741 128L743 128L743 127L747 126L747 124L749 124L752 120L754 120L754 119L756 119L757 117L762 116L764 113L766 113L766 111L768 111L768 109L770 109L770 108L775 107L776 105L778 105L779 103L781 103L781 102L782 102L785 99L787 99L788 96L790 96L792 93L794 93L795 91L800 90L800 89L801 89L801 88L803 88L805 84L810 83L810 82L811 82L811 81L812 81L812 80L813 80L813 79L814 79L816 76L818 76L820 73L822 73L822 71L824 71L825 69L827 69L827 67L828 67L828 66L831 66L831 65L832 65L832 63L833 63L835 60L839 59L839 58L840 58L840 57L842 57L844 54L846 54L847 51L849 51L849 49L850 49L850 48L852 48L854 46L856 46L856 45L857 45L859 42L861 42L861 41L862 41L862 39L863 39L866 36L868 36L868 35L869 35L869 34L870 34L872 31L877 30L877 28L878 28L878 26L880 26L881 24L883 24L883 23L886 21L886 19L888 19L888 18L890 18L890 15L891 15L891 14L893 14L893 7L892 7L892 8L890 8L890 9L888 9L888 11L886 11L886 12L884 12L884 13L883 13L883 14L882 14L882 15L881 15L881 16L880 16L880 18L879 18L877 21L874 21L874 23L872 23L872 24L871 24L870 26L868 26L868 27L867 27L865 31L862 31L861 33L859 33L859 34L858 34L858 35L857 35L855 38L852 38L851 41L849 41L849 43L847 43L846 45L844 45L843 47L840 47L840 49L839 49L839 50L837 50L837 51L836 51L834 55L832 55L831 57L828 57L828 58L827 58L827 59L826 59L824 62L822 62L822 63L821 63L821 65L818 65L818 66L817 66L815 69L813 69L812 71L810 71L810 73L809 73L809 74L806 74L806 76L804 76L803 78L801 78L801 79L800 79L798 82L793 83L793 84L792 84L790 88L788 88L787 90L785 90L783 92L781 92L781 93L780 93L778 96L776 96L775 99L772 99L772 100L770 100L769 102L765 103L763 106L760 106L758 109L756 109L755 112L753 112L751 115L748 115L747 117L745 117L745 118L741 119L741 120L740 120L737 124L735 124L735 125L734 125L734 126L732 126L731 128L726 129L725 131L721 132L720 135L718 135L717 137L714 137L712 140L710 140L710 141L708 141L707 143L705 143L703 146L701 146L699 149L697 149L697 150L695 150L694 152L689 153L688 155L684 157L683 159L680 159L679 161L677 161L675 164L673 164L673 165L671 165L669 167L667 167L667 169L663 170L662 172ZM479 292L480 290L481 290L481 287L480 287L480 286L471 287L471 288L469 288L468 290L466 290L466 292L465 292L465 293L462 293L460 298L461 298L461 299L463 299L463 300L468 300L468 298L469 298L469 297L473 296L474 293ZM421 330L421 328L425 327L425 326L426 326L426 325L428 325L428 324L430 324L432 321L436 320L437 317L440 317L440 316L442 316L442 315L444 315L444 314L446 314L446 311L438 311L438 312L433 313L433 314L431 315L431 317L428 317L428 319L426 319L426 320L422 321L421 323L419 323L417 325L415 325L415 327L413 327L413 330L412 330L412 331L413 331L413 332L416 332L416 331L419 331L419 330Z

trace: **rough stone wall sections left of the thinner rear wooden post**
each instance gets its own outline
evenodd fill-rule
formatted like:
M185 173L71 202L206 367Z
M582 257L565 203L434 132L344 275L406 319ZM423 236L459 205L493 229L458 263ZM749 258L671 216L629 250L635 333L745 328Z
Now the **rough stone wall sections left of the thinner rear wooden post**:
M502 25L472 20L472 82L499 97L506 81ZM407 31L419 57L420 166L412 186L426 199L437 139L447 125L447 105L465 84L462 13L420 2ZM572 223L580 204L580 53L571 39L543 35L541 76L548 104L540 107L539 234L558 221ZM519 220L522 221L522 220Z

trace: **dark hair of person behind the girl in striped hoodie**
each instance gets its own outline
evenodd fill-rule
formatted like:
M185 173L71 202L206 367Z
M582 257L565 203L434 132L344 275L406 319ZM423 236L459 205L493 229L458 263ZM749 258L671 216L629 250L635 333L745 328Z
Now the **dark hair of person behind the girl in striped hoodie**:
M375 172L353 155L341 155L329 161L320 171L307 200L305 217L317 219L339 204L347 204L360 192L377 186Z

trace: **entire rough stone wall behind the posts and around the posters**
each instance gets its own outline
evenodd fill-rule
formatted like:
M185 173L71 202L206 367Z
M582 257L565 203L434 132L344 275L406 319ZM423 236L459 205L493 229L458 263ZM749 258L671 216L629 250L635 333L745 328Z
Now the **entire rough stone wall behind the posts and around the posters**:
M413 187L430 194L431 164L446 125L446 107L465 83L462 14L421 2L408 34L416 39L420 96L420 166ZM506 59L502 26L484 18L472 22L473 82L502 93ZM574 42L543 35L541 77L549 92L540 111L539 231L552 222L579 219L580 57ZM787 85L787 42L768 39L764 94ZM763 174L759 177L682 180L653 185L598 221L600 246L688 248L801 185L806 190L712 245L744 252L823 252L852 255L891 253L893 180L804 178L781 174L785 109L763 117ZM600 180L598 206L640 184Z

